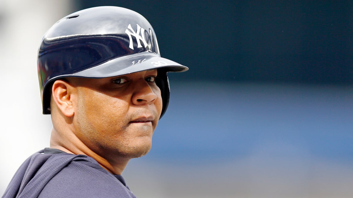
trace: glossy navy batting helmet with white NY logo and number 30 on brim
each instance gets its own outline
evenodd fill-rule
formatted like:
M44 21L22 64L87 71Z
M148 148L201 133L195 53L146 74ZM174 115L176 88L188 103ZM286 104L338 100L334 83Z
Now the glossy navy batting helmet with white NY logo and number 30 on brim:
M155 32L140 14L115 6L72 13L45 33L38 49L43 114L50 114L53 82L64 77L106 78L157 69L162 114L169 102L167 72L188 68L162 58Z

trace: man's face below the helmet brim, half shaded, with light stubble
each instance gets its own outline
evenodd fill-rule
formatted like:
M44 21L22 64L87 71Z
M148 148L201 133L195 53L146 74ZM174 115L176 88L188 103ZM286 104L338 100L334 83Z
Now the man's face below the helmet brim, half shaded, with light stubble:
M77 90L76 136L107 160L148 153L162 111L157 70L102 79L69 78Z

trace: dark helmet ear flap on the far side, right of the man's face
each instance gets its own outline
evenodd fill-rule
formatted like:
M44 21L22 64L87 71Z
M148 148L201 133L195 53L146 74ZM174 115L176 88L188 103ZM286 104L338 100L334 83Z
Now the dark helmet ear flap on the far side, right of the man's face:
M167 107L169 104L170 88L169 88L167 72L163 69L157 69L157 71L158 71L158 75L156 78L156 85L161 89L162 104L163 104L162 113L160 116L160 119L161 119L164 113L167 111Z

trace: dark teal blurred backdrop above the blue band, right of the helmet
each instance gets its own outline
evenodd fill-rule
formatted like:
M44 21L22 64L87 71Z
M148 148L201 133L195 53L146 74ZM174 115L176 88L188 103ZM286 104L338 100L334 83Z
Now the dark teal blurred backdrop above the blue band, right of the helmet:
M351 0L75 1L103 5L147 18L179 80L353 84Z

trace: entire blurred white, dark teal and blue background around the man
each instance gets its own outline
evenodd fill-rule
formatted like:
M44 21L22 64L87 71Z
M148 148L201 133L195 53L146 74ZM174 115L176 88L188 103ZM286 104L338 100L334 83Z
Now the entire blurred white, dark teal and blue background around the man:
M353 1L0 0L0 194L49 146L36 54L46 30L113 5L149 20L170 74L137 197L353 197Z

